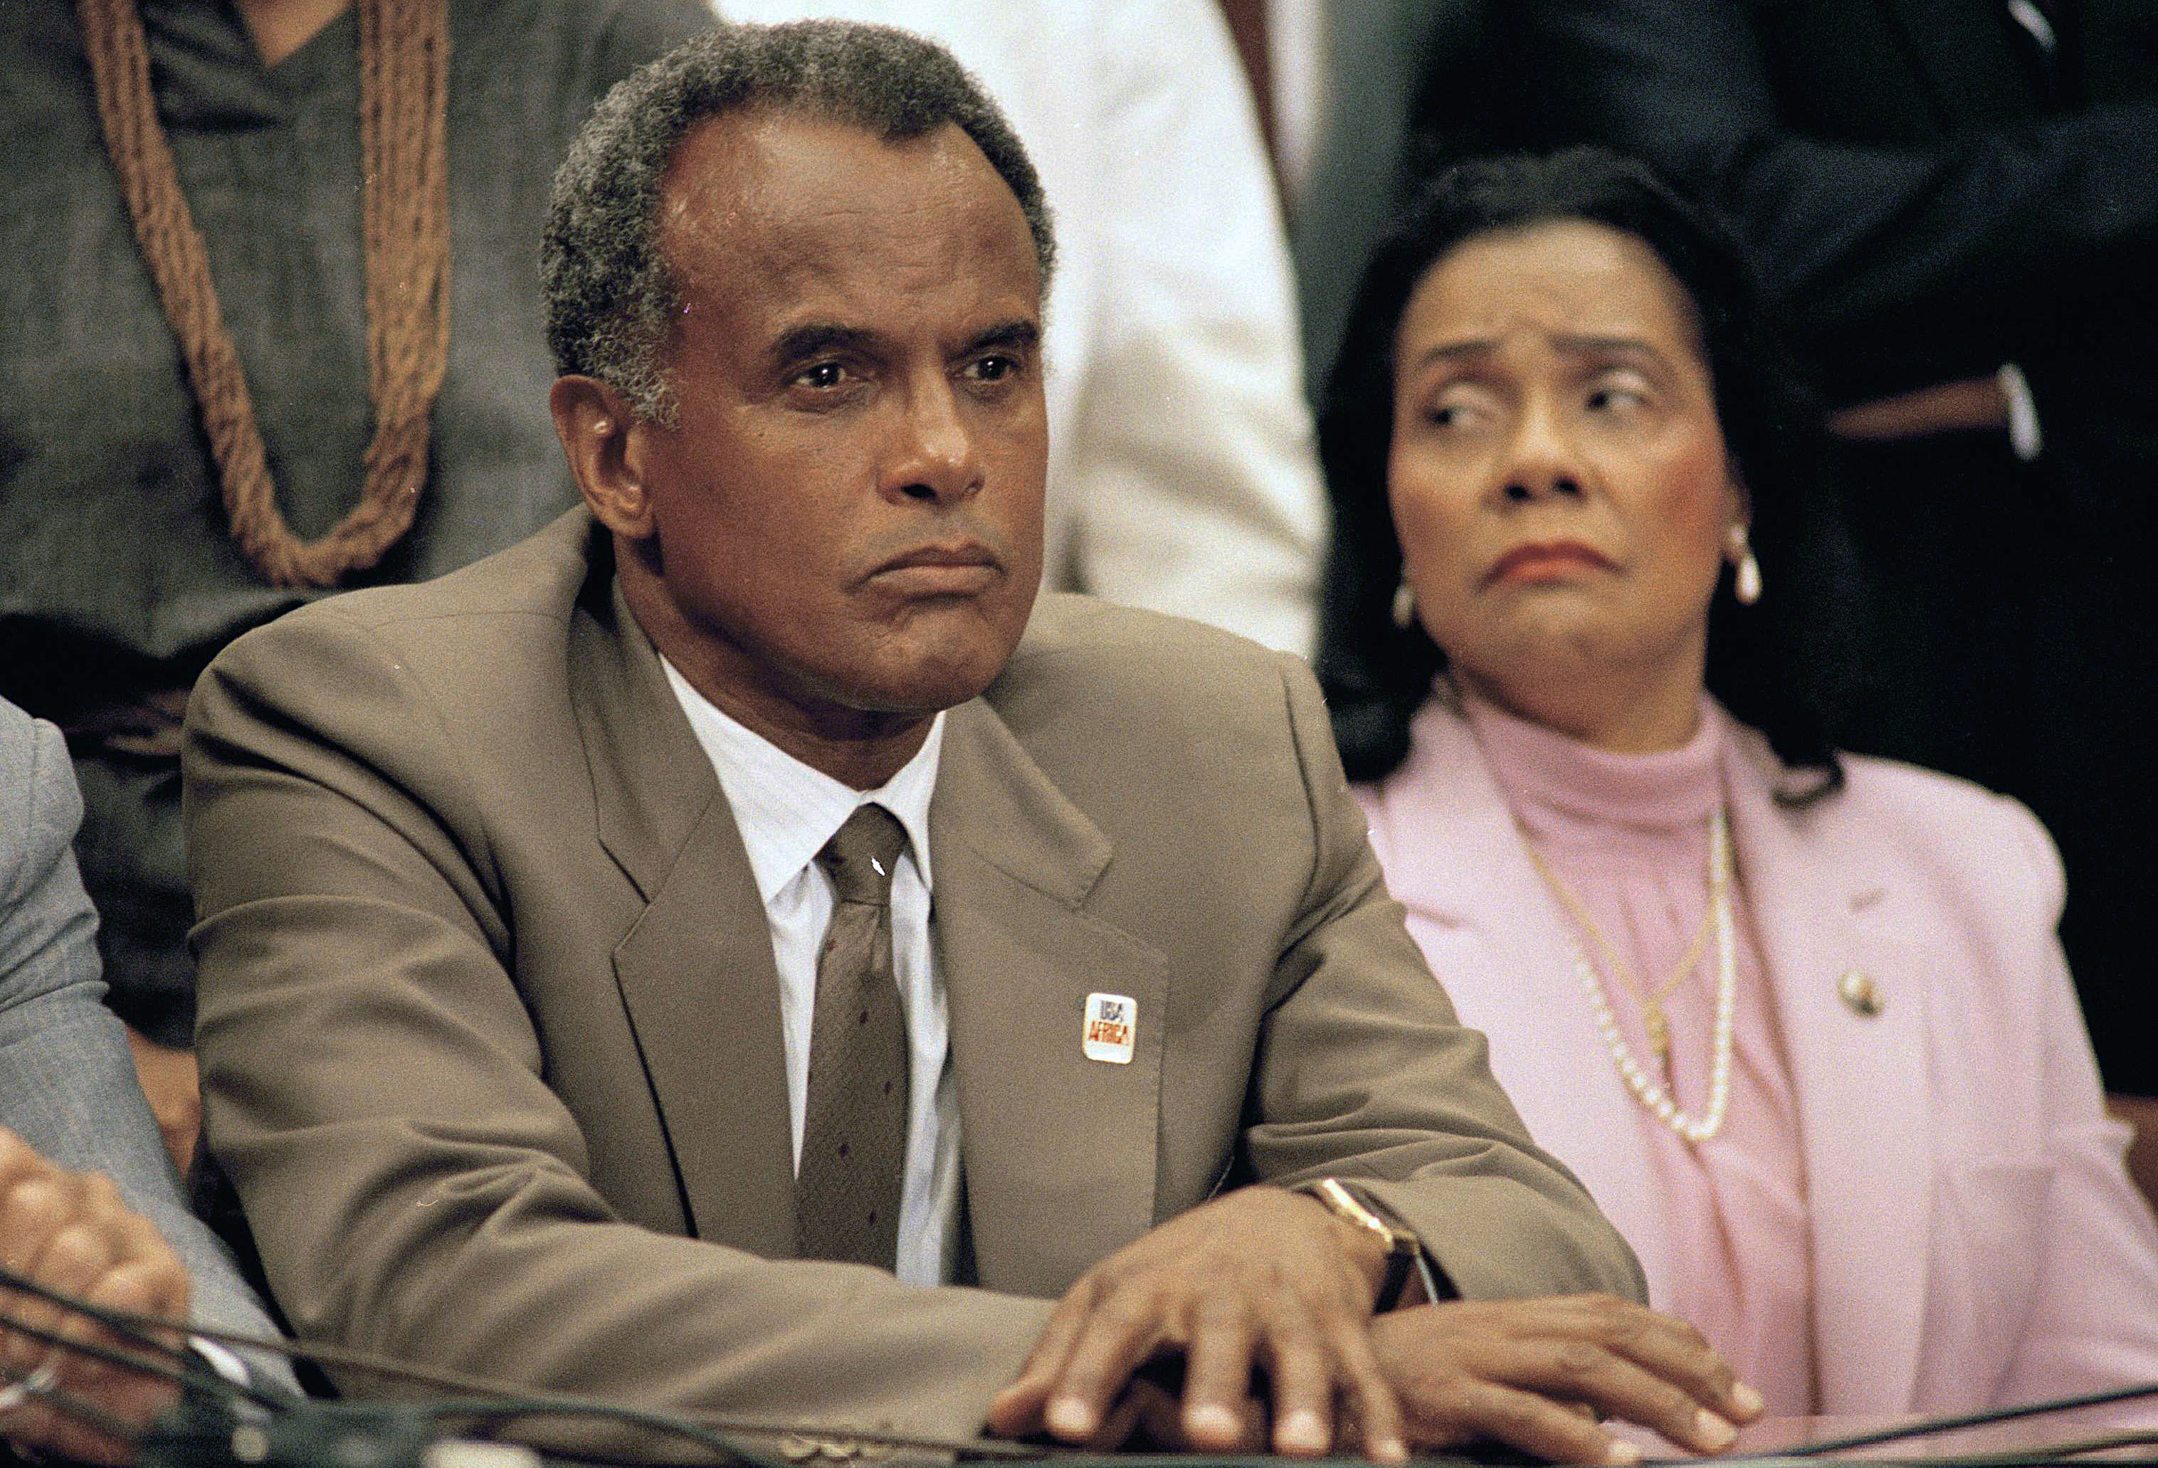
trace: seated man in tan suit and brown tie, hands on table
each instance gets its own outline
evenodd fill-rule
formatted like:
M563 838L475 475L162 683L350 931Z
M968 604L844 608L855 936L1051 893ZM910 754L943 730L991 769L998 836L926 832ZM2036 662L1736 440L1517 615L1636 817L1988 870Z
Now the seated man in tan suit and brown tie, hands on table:
M1640 1276L1416 956L1303 665L1036 604L1049 263L911 37L723 28L602 104L546 244L585 509L252 633L190 710L209 1136L278 1304L829 1429L1720 1446L1750 1401L1683 1326L1472 1304ZM796 1179L809 853L865 805L883 1267L801 1256L839 1205Z

